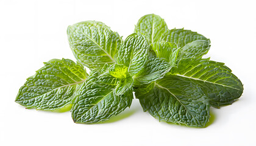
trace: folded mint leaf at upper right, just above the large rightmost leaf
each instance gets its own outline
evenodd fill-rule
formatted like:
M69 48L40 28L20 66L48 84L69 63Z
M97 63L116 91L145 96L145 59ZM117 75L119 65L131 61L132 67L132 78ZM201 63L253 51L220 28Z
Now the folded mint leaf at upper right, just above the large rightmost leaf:
M169 30L162 36L162 40L176 43L177 47L180 47L177 60L190 57L201 58L210 49L210 40L191 30Z

